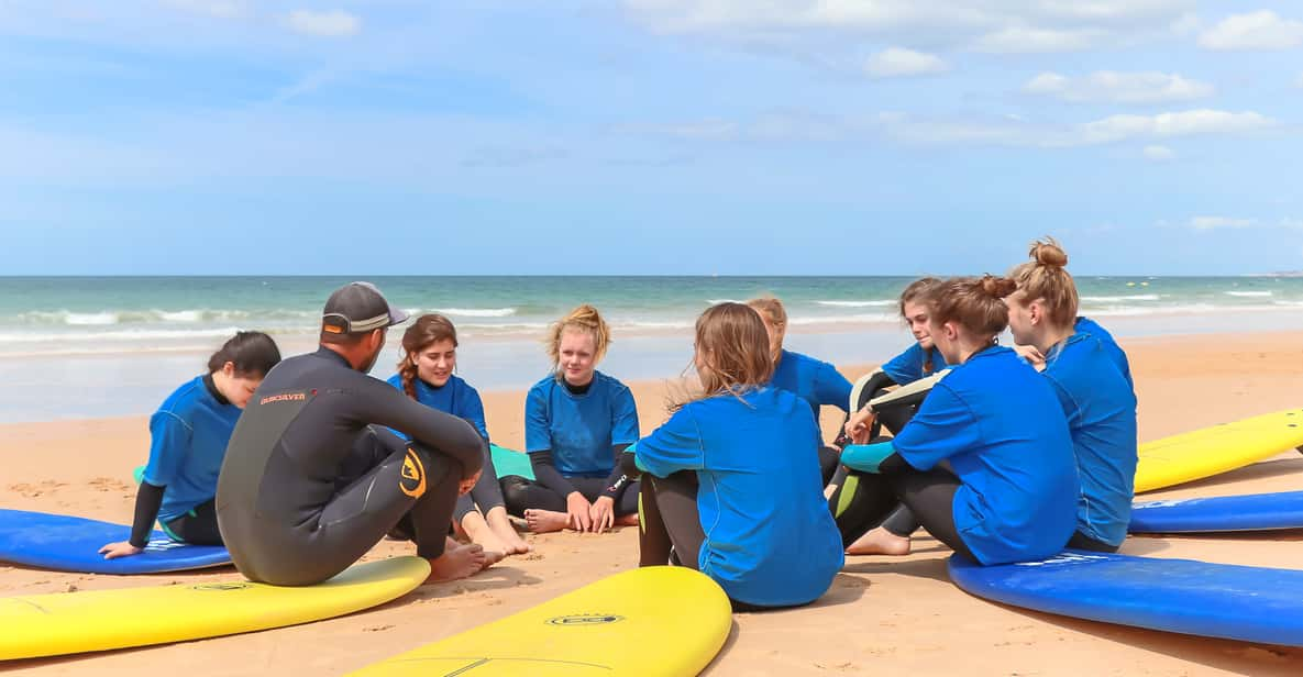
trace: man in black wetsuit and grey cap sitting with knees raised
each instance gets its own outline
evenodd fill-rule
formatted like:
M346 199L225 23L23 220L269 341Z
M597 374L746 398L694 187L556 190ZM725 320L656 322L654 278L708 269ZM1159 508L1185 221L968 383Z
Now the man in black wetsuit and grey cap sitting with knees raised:
M250 581L319 583L396 527L430 561L430 581L485 566L482 547L450 549L447 534L487 443L366 375L404 320L375 286L341 286L326 302L321 348L281 362L245 408L218 479L218 522Z

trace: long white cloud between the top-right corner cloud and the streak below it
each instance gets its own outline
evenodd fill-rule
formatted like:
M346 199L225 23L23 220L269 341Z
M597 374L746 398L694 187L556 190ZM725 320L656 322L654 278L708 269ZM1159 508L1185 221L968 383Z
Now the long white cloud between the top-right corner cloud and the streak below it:
M1213 86L1175 73L1119 73L1097 70L1080 78L1041 73L1023 85L1027 94L1040 94L1072 103L1166 103L1212 96Z

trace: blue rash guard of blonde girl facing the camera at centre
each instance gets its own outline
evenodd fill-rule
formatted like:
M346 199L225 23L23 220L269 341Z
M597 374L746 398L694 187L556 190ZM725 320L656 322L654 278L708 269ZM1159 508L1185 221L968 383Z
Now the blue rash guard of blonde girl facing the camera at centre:
M547 376L525 397L525 452L551 450L562 477L609 477L615 467L612 448L637 439L633 394L601 371L582 394Z

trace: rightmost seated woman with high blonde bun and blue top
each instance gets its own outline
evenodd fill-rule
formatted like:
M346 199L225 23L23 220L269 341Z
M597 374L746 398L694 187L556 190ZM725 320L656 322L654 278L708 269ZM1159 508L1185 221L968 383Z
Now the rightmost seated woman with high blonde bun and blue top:
M1136 474L1136 398L1108 341L1081 331L1078 293L1053 240L1033 242L1032 260L1010 273L1007 297L1014 341L1040 355L1067 417L1081 492L1070 548L1117 552L1131 522ZM1087 320L1088 322L1088 320ZM1117 345L1117 344L1111 344ZM1123 362L1126 359L1123 354Z

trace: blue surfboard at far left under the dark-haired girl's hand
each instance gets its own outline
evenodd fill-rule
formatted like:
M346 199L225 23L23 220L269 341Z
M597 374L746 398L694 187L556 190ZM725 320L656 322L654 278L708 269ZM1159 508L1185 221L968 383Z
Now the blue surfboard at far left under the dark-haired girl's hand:
M145 552L106 560L99 548L126 540L132 527L64 514L0 509L0 561L90 574L150 574L231 564L220 546L176 543L155 531Z

